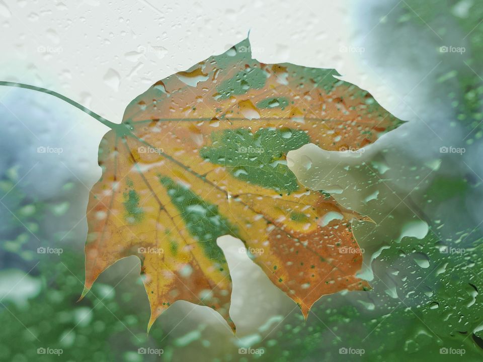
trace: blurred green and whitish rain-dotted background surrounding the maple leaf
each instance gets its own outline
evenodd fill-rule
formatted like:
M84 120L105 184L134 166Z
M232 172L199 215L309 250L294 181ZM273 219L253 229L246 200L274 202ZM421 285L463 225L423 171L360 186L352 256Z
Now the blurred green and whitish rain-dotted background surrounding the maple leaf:
M153 82L247 37L266 63L335 68L408 121L361 152L288 155L355 225L371 292L304 322L232 237L234 336L177 302L146 335L139 259L84 300L85 212L107 128L52 96L0 87L0 360L415 361L483 358L483 5L476 0L0 0L0 80L47 87L120 122ZM241 349L240 349L241 348Z

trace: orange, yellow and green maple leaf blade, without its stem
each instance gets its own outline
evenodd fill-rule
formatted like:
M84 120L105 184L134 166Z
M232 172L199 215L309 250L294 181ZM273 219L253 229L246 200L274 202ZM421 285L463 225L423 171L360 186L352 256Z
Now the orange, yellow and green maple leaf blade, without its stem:
M216 240L241 239L307 318L323 295L368 290L354 219L298 182L286 154L307 143L358 149L401 121L332 69L252 59L248 39L153 84L99 147L83 296L137 255L155 319L177 300L229 317L231 280Z

